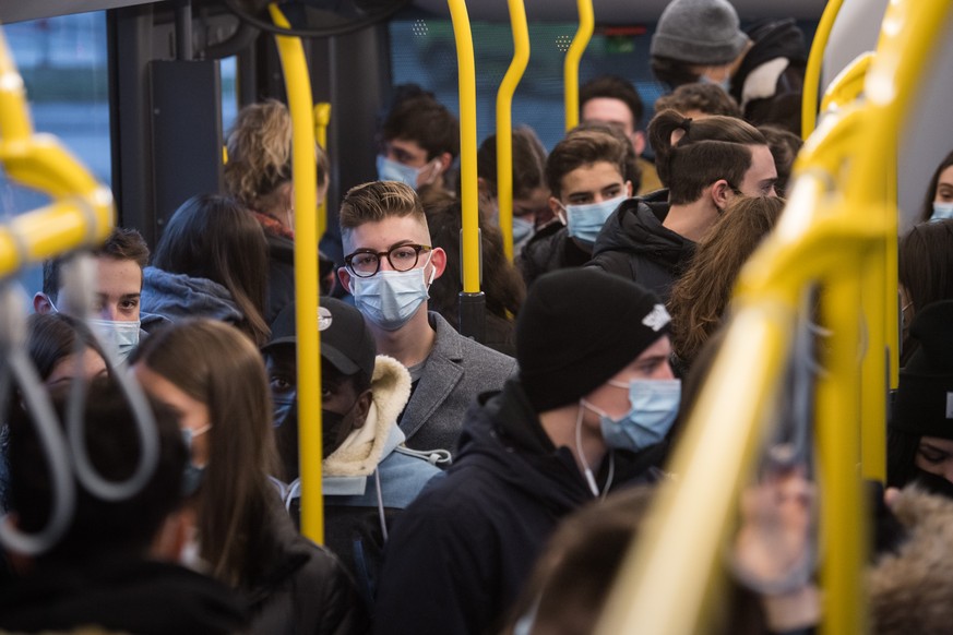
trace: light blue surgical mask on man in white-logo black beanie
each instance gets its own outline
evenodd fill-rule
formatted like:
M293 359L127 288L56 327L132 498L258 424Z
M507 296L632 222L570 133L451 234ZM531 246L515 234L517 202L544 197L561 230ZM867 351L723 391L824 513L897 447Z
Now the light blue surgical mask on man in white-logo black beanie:
M608 447L638 452L665 439L678 415L681 380L632 380L629 384L609 382L629 390L629 411L619 419L599 412L603 440Z

